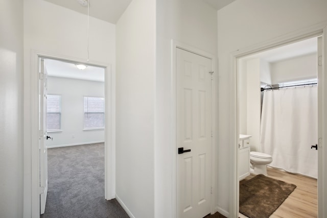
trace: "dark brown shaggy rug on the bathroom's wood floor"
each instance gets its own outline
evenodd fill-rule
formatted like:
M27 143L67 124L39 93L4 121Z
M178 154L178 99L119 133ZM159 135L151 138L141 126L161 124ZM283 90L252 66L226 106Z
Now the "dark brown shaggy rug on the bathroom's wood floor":
M256 175L240 182L240 213L250 218L269 217L292 193L296 185Z

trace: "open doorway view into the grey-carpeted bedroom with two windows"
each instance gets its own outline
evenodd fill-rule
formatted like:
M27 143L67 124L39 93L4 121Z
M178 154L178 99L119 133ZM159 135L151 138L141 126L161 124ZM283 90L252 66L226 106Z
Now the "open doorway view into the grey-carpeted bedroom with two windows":
M105 68L49 58L40 58L40 63L45 87L40 91L47 103L40 110L45 120L40 130L47 139L44 156L40 152L40 175L41 186L49 184L41 193L41 214L44 208L45 215L58 208L64 214L73 209L66 208L71 199L80 198L83 204L84 199L104 196ZM86 190L92 191L86 195Z

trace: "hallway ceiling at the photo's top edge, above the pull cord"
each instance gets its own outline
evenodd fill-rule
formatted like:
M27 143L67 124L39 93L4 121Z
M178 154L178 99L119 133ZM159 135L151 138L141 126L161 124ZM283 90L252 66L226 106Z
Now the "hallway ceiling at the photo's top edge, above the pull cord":
M82 6L77 0L44 0L64 8L87 14L87 6ZM164 0L165 1L165 0ZM219 10L235 0L196 0L203 1ZM132 0L89 0L89 14L92 17L115 24Z

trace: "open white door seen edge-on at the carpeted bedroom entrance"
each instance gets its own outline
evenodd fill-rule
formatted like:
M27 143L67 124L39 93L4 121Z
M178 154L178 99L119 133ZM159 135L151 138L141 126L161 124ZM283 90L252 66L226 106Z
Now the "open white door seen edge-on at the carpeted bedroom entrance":
M46 94L47 94L47 75L44 69L44 59L40 59L39 68L39 157L40 157L40 214L44 213L46 194L48 193L48 150L46 149Z

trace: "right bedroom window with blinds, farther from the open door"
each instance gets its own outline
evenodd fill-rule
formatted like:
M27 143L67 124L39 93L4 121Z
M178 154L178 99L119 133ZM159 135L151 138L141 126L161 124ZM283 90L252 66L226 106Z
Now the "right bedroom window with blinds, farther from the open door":
M104 98L84 97L84 130L104 128Z

